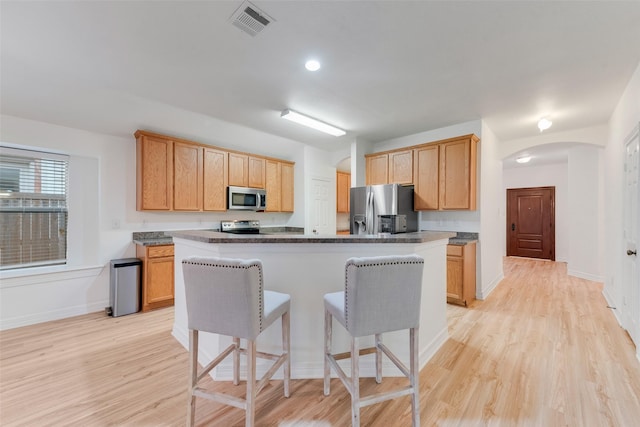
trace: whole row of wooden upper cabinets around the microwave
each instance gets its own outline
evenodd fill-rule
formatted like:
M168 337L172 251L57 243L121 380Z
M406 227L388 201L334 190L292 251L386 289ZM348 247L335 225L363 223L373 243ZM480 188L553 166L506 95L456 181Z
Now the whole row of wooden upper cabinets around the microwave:
M267 187L271 170L269 210L293 212L293 162L227 151L209 145L143 130L136 137L136 209L162 211L225 211L227 187ZM272 166L273 167L273 166ZM274 186L275 185L275 186ZM267 202L270 198L267 197Z

